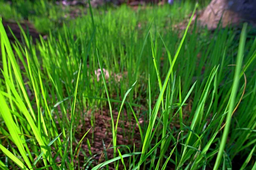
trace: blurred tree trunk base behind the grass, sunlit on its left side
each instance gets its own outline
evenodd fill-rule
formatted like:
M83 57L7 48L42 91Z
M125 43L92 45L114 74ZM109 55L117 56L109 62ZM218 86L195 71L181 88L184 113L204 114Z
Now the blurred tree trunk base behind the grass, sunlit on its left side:
M209 29L256 21L256 0L212 0L199 17L201 26Z

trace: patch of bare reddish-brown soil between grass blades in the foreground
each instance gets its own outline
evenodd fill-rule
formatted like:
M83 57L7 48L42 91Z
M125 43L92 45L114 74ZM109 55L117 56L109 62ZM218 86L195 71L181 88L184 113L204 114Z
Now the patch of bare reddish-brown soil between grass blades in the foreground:
M128 120L127 114L131 114L131 122ZM122 119L122 115L125 117L125 120ZM81 148L85 150L85 152L87 153L87 156L90 157L89 146L85 142L88 139L90 141L90 150L92 152L92 155L97 154L97 156L95 156L94 159L97 161L97 164L100 164L106 160L105 153L104 153L105 150L106 150L108 160L113 158L113 149L108 149L113 146L112 145L113 136L111 131L111 116L110 116L110 111L108 109L105 109L104 111L102 111L102 113L99 113L99 112L93 113L93 115L91 116L94 116L94 119L95 119L95 122L93 123L93 127L91 126L90 118L87 117L86 124L83 125L81 129L81 131L85 133L90 129L90 127L92 127L92 129L89 131L89 133L85 137L84 143L81 145ZM113 111L114 124L116 124L117 116L118 116L118 111ZM130 135L132 134L133 130L134 130L134 136L132 137ZM77 135L78 135L77 140L79 141L84 134L79 133ZM133 151L134 149L131 146L135 144L135 151L139 151L137 149L140 148L140 144L141 144L140 131L134 119L134 116L132 116L132 113L126 113L126 111L121 113L119 117L118 127L117 127L116 140L117 140L116 141L117 145L128 145L130 146L131 151ZM103 142L105 143L105 149L103 146ZM119 150L120 150L120 147L119 147ZM84 160L84 155L80 153L78 159L80 160L80 163L81 163ZM125 161L127 160L128 159L126 159ZM119 169L122 169L121 162L119 163L119 166L120 166ZM113 164L110 164L109 168L114 169Z

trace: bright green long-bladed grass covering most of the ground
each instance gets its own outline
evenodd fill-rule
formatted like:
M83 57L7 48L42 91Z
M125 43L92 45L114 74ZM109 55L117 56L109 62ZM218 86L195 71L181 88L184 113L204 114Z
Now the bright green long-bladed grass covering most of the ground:
M24 43L9 42L1 22L0 167L255 169L256 38L247 24L241 33L199 29L193 16L186 30L175 29L194 5L91 9L42 28L48 38L36 44L26 31ZM11 10L10 17L40 22L44 8L35 6L38 16ZM112 141L103 141L100 162L90 148L103 111ZM119 144L119 135L136 133L140 147Z

